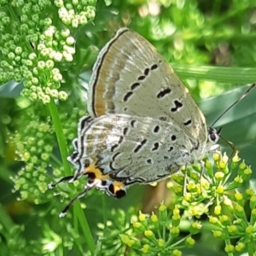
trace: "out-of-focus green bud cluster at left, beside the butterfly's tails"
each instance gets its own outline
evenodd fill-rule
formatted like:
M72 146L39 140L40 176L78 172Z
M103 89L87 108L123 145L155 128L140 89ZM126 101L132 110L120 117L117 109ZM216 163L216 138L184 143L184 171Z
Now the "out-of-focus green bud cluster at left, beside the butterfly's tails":
M39 109L42 112L42 108ZM73 137L76 136L78 119L83 114L84 112L78 109L74 109L72 113L60 114L63 133L70 147ZM68 123L64 122L67 119ZM11 137L11 143L15 145L17 160L25 165L12 180L15 183L15 191L20 192L20 200L29 199L39 204L53 197L52 193L46 195L49 191L48 172L53 172L55 177L63 175L61 159L57 158L54 152L57 145L55 132L49 118L38 116L29 110L21 117L20 122L26 125L21 126Z

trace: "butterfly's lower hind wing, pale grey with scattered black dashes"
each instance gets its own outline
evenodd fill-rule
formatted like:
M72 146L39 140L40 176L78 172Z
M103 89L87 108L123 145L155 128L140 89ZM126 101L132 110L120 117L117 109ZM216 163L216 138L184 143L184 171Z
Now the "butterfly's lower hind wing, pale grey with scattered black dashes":
M75 143L77 151L70 157L78 166L75 178L98 169L101 180L108 177L125 185L170 176L195 160L192 152L198 147L176 122L127 114L84 117Z

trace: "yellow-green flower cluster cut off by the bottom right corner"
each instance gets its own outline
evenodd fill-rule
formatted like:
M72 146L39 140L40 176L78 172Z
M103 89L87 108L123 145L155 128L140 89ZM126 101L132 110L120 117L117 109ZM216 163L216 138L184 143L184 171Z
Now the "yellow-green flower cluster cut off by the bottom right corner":
M243 194L234 191L230 198L232 201L229 204L219 204L214 208L215 216L209 216L209 222L215 227L213 236L225 241L226 253L247 251L249 255L255 255L255 191L247 189ZM231 241L236 241L236 244L233 245Z

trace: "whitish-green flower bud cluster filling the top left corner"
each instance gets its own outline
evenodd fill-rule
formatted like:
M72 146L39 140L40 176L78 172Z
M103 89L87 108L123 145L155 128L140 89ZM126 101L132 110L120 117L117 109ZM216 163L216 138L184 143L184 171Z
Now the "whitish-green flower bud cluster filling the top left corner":
M65 9L63 1L17 0L0 9L0 84L23 80L22 95L44 104L67 100L61 68L75 54L71 29L94 18L95 2L65 1ZM47 15L56 7L59 20Z

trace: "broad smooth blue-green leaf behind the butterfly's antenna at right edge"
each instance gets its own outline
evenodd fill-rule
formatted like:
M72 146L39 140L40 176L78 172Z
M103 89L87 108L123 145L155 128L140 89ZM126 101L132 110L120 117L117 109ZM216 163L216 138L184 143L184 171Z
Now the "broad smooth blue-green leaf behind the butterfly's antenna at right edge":
M241 97L249 88L249 85L230 90L223 95L215 96L201 102L200 108L207 117L207 124L212 125L219 115L229 108L233 102ZM255 149L256 149L256 89L250 93L236 106L230 109L224 116L218 120L214 128L222 127L221 136L230 141L240 152L241 159L245 159L247 165L256 167ZM229 150L230 147L223 140L219 140L223 150ZM256 177L256 173L254 177Z

